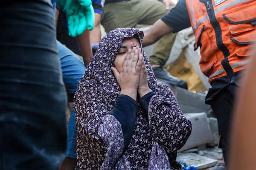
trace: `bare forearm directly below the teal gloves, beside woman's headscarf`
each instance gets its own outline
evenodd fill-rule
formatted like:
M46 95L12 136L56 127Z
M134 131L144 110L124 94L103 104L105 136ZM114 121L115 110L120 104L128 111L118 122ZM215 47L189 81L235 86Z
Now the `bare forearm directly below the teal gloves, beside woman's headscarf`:
M90 45L90 31L86 29L83 34L76 37L76 40L81 49L84 65L87 67L93 57L93 51Z

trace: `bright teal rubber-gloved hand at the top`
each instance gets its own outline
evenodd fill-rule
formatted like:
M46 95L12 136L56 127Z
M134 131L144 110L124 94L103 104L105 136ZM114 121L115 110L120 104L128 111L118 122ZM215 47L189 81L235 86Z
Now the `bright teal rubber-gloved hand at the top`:
M57 3L67 16L70 36L76 37L85 29L93 29L94 11L91 0L57 0Z

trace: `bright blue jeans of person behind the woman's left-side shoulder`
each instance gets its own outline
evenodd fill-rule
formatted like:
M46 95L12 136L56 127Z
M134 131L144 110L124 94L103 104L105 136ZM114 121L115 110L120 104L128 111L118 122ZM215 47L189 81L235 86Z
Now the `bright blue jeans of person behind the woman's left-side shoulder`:
M70 49L57 41L58 53L61 61L63 81L68 93L75 93L78 82L84 75L84 63ZM74 110L71 112L68 124L68 140L66 157L76 158L76 122Z

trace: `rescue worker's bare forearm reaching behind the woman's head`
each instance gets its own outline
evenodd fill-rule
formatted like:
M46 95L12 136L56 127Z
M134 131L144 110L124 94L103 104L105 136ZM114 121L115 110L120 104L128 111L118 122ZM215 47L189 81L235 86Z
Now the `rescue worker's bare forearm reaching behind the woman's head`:
M164 35L172 32L173 28L168 26L162 20L158 20L148 30L144 31L144 39L142 42L143 47L154 44Z

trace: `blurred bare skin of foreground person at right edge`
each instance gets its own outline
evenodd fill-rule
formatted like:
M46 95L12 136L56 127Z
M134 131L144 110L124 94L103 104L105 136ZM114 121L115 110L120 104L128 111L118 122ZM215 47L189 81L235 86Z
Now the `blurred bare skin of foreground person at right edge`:
M255 45L254 45L255 47ZM256 53L243 73L241 88L236 97L230 140L230 170L255 169L256 144Z

